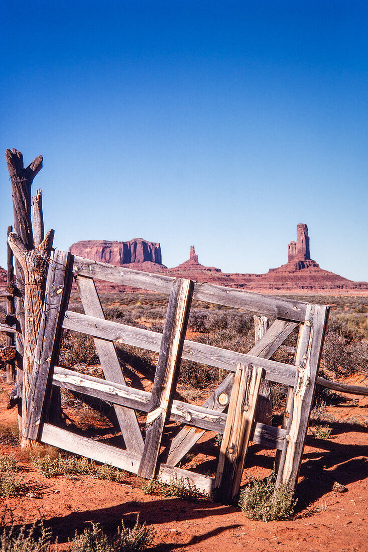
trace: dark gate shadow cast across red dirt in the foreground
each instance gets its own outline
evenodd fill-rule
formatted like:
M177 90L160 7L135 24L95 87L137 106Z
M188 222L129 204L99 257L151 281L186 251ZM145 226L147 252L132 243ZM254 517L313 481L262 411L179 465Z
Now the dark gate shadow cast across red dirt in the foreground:
M231 506L218 505L208 501L188 502L178 498L167 499L157 498L149 502L128 501L117 506L108 508L99 508L86 510L84 512L72 512L62 517L53 517L47 521L51 527L54 536L58 537L59 543L66 543L68 539L73 539L77 530L78 534L83 533L86 527L90 527L91 522L98 522L107 533L116 532L122 519L127 527L133 527L136 522L136 516L139 514L140 523L146 522L148 526L157 528L162 523L177 523L178 521L187 521L188 527L186 533L190 535L191 524L196 520L201 520L209 516L217 516L218 527L200 535L193 535L186 542L166 542L161 543L152 550L169 552L177 548L184 548L190 544L204 542L206 539L222 533L228 529L241 527L240 524L222 524L222 516L237 512L238 509ZM169 537L170 539L170 537ZM175 539L177 541L177 538Z

